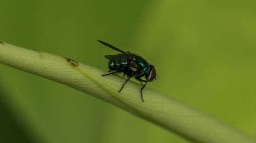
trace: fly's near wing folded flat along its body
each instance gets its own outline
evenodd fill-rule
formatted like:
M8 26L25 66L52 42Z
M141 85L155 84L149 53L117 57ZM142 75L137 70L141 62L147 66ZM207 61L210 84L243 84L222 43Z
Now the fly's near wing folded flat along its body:
M139 66L129 54L105 55L105 58L118 64L127 65L133 71L137 71L139 68Z

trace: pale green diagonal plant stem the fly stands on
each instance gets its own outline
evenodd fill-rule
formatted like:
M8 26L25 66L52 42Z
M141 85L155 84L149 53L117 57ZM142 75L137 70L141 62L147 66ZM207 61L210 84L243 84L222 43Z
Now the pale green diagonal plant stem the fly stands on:
M0 42L0 63L68 85L149 120L194 142L255 142L251 137L169 96L50 53Z

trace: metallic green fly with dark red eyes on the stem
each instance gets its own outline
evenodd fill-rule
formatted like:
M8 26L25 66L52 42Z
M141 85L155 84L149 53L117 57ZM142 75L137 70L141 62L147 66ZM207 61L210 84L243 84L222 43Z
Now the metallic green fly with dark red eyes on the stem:
M123 89L124 85L130 80L131 77L135 77L136 80L140 82L144 82L145 84L140 89L140 95L142 102L144 102L142 90L145 88L148 81L153 81L156 79L156 70L153 65L150 65L144 58L138 56L137 54L133 54L131 52L124 52L115 46L112 46L106 42L98 40L101 44L112 48L113 50L121 52L120 54L116 55L105 55L106 59L109 59L109 74L103 74L102 76L123 72L124 75L128 76L128 79L122 85L121 90ZM145 76L146 80L141 79Z

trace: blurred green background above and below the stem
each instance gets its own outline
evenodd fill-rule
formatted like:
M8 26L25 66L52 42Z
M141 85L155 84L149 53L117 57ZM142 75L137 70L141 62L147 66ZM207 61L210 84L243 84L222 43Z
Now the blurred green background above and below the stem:
M0 1L0 40L107 71L100 39L143 56L148 88L256 137L256 1ZM0 65L0 142L189 142L113 105Z

